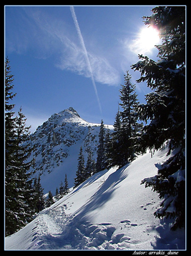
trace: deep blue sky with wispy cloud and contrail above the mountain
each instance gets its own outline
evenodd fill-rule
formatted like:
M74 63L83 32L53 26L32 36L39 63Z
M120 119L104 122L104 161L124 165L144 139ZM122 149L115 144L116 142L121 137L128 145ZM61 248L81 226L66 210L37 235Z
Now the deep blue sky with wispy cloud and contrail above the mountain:
M143 47L140 33L154 6L6 6L5 57L14 75L14 111L22 106L35 131L52 114L73 107L92 123L113 124L129 70L140 103L150 90L130 66ZM72 11L73 10L73 11ZM73 16L72 16L73 12ZM76 20L75 20L76 19Z

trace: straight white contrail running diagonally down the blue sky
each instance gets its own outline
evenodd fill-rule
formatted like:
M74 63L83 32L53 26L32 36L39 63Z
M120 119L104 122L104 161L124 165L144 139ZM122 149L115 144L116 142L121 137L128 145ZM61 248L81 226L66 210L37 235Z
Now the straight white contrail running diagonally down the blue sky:
M84 55L85 55L85 60L87 62L87 66L88 66L88 69L89 69L89 72L90 72L90 76L91 76L91 81L92 81L92 84L93 84L93 89L94 89L94 91L96 93L96 97L97 97L97 100L98 100L98 105L99 105L99 108L100 108L100 112L102 114L102 107L101 107L101 104L100 104L100 98L98 96L98 91L97 91L97 88L96 88L96 83L95 83L94 78L93 78L93 72L92 72L91 65L90 65L90 62L89 62L89 58L88 58L88 55L87 55L87 50L85 48L85 44L84 44L84 41L83 41L83 37L81 35L81 31L80 31L80 28L79 28L79 24L77 22L77 18L76 18L73 6L70 6L70 11L71 11L72 19L73 19L73 22L74 22L74 25L75 25L75 28L76 28L76 31L77 31L77 34L78 34L81 46L83 48L83 52L84 52Z

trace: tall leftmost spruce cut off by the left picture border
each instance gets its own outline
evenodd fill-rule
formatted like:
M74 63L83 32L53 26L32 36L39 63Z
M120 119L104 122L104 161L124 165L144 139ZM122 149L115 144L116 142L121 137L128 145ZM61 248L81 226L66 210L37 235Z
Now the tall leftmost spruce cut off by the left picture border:
M6 202L6 235L13 234L16 230L13 222L17 221L12 209L14 203L15 185L13 177L16 173L15 163L13 161L15 150L15 118L10 100L16 95L13 93L13 75L11 74L10 61L6 58L5 62L5 202Z

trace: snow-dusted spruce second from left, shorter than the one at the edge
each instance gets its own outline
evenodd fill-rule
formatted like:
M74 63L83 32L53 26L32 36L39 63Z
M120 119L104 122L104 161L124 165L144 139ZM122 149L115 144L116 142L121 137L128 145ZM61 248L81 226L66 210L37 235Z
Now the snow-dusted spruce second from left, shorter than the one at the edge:
M22 113L22 108L15 119L15 152L12 161L14 162L14 177L12 182L14 183L14 203L12 209L15 211L15 217L17 219L17 229L23 227L28 221L32 220L34 209L31 207L31 201L33 200L30 177L32 173L29 172L30 167L34 164L34 161L27 162L31 155L31 147L26 142L30 132L30 127L26 127L26 118Z

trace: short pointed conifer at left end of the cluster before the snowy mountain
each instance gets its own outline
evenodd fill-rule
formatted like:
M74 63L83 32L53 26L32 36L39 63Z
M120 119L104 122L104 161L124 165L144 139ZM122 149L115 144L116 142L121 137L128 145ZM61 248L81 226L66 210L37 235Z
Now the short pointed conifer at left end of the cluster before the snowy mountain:
M79 155L78 155L78 165L77 165L76 177L74 178L74 187L78 186L85 180L84 179L84 170L85 170L84 157L83 157L83 149L81 146L80 150L79 150Z

